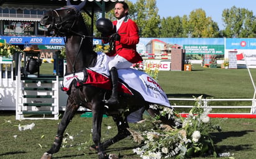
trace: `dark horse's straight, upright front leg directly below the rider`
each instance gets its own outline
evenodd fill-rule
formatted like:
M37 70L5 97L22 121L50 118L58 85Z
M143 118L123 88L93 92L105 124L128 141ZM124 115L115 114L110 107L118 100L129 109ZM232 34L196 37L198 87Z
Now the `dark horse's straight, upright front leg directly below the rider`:
M96 145L99 159L108 158L103 144L101 144L101 124L103 121L104 105L101 102L93 104L93 142Z

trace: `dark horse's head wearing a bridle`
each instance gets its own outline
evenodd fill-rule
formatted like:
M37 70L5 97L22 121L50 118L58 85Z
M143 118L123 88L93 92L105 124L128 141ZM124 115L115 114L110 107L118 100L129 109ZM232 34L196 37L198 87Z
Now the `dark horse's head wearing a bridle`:
M66 2L66 6L59 9L48 11L42 15L40 24L46 26L48 30L55 30L65 35L74 27L76 19L80 16L80 11L86 4L86 0L79 5L71 5L70 0Z

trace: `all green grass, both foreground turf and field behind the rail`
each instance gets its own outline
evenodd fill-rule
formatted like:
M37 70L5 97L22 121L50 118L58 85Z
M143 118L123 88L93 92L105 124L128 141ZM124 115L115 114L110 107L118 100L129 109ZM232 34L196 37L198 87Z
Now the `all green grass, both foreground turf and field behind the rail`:
M40 72L52 74L52 64L42 64ZM252 76L256 75L256 69L250 69ZM199 65L193 65L193 71L160 71L159 83L170 98L191 98L192 95L213 98L252 98L254 89L247 69L210 69ZM172 101L171 101L172 102ZM227 105L227 103L220 103ZM236 103L240 105L240 102ZM63 112L61 112L63 114ZM68 141L68 148L61 148L53 158L98 158L96 152L89 150L91 141L91 118L80 118L82 112L78 112L70 122L66 132L75 138ZM234 153L234 158L255 158L256 153L256 120L255 119L222 119L213 118L219 122L222 132L211 133L214 136L214 144L217 152ZM6 122L6 121L11 121ZM17 125L35 123L32 130L19 131ZM57 133L58 121L54 120L15 120L14 112L0 111L0 158L40 158L53 144ZM116 126L111 118L103 119L103 137L109 139L117 133ZM111 129L106 129L111 126ZM131 127L135 126L130 124ZM14 135L17 135L16 139ZM122 159L139 159L132 152L137 144L131 138L117 142L107 148L107 153L116 153ZM207 157L213 158L213 157ZM228 157L222 157L227 159ZM199 158L198 158L199 159Z

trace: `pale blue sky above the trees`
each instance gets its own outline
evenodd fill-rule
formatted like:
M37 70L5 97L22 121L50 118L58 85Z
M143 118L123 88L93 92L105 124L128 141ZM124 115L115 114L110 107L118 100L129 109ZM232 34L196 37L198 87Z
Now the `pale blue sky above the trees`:
M133 3L137 0L129 0ZM156 0L158 7L158 15L160 17L175 17L179 15L190 15L190 12L195 9L203 9L206 12L206 17L211 17L214 22L217 22L219 29L223 30L222 11L231 9L232 6L245 8L254 12L256 15L256 0Z

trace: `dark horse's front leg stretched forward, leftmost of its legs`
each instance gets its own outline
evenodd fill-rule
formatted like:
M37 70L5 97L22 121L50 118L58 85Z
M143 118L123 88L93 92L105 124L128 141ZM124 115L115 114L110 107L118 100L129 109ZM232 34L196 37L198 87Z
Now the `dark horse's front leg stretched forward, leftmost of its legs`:
M50 148L50 150L48 150L43 154L41 159L50 159L52 158L53 153L57 153L60 150L60 146L62 145L62 140L63 140L63 134L66 130L66 127L70 123L71 119L75 115L76 110L78 110L78 106L73 104L70 101L70 98L68 98L66 110L62 120L60 121L60 124L58 125L58 131L57 131L57 135L55 136L53 145Z

